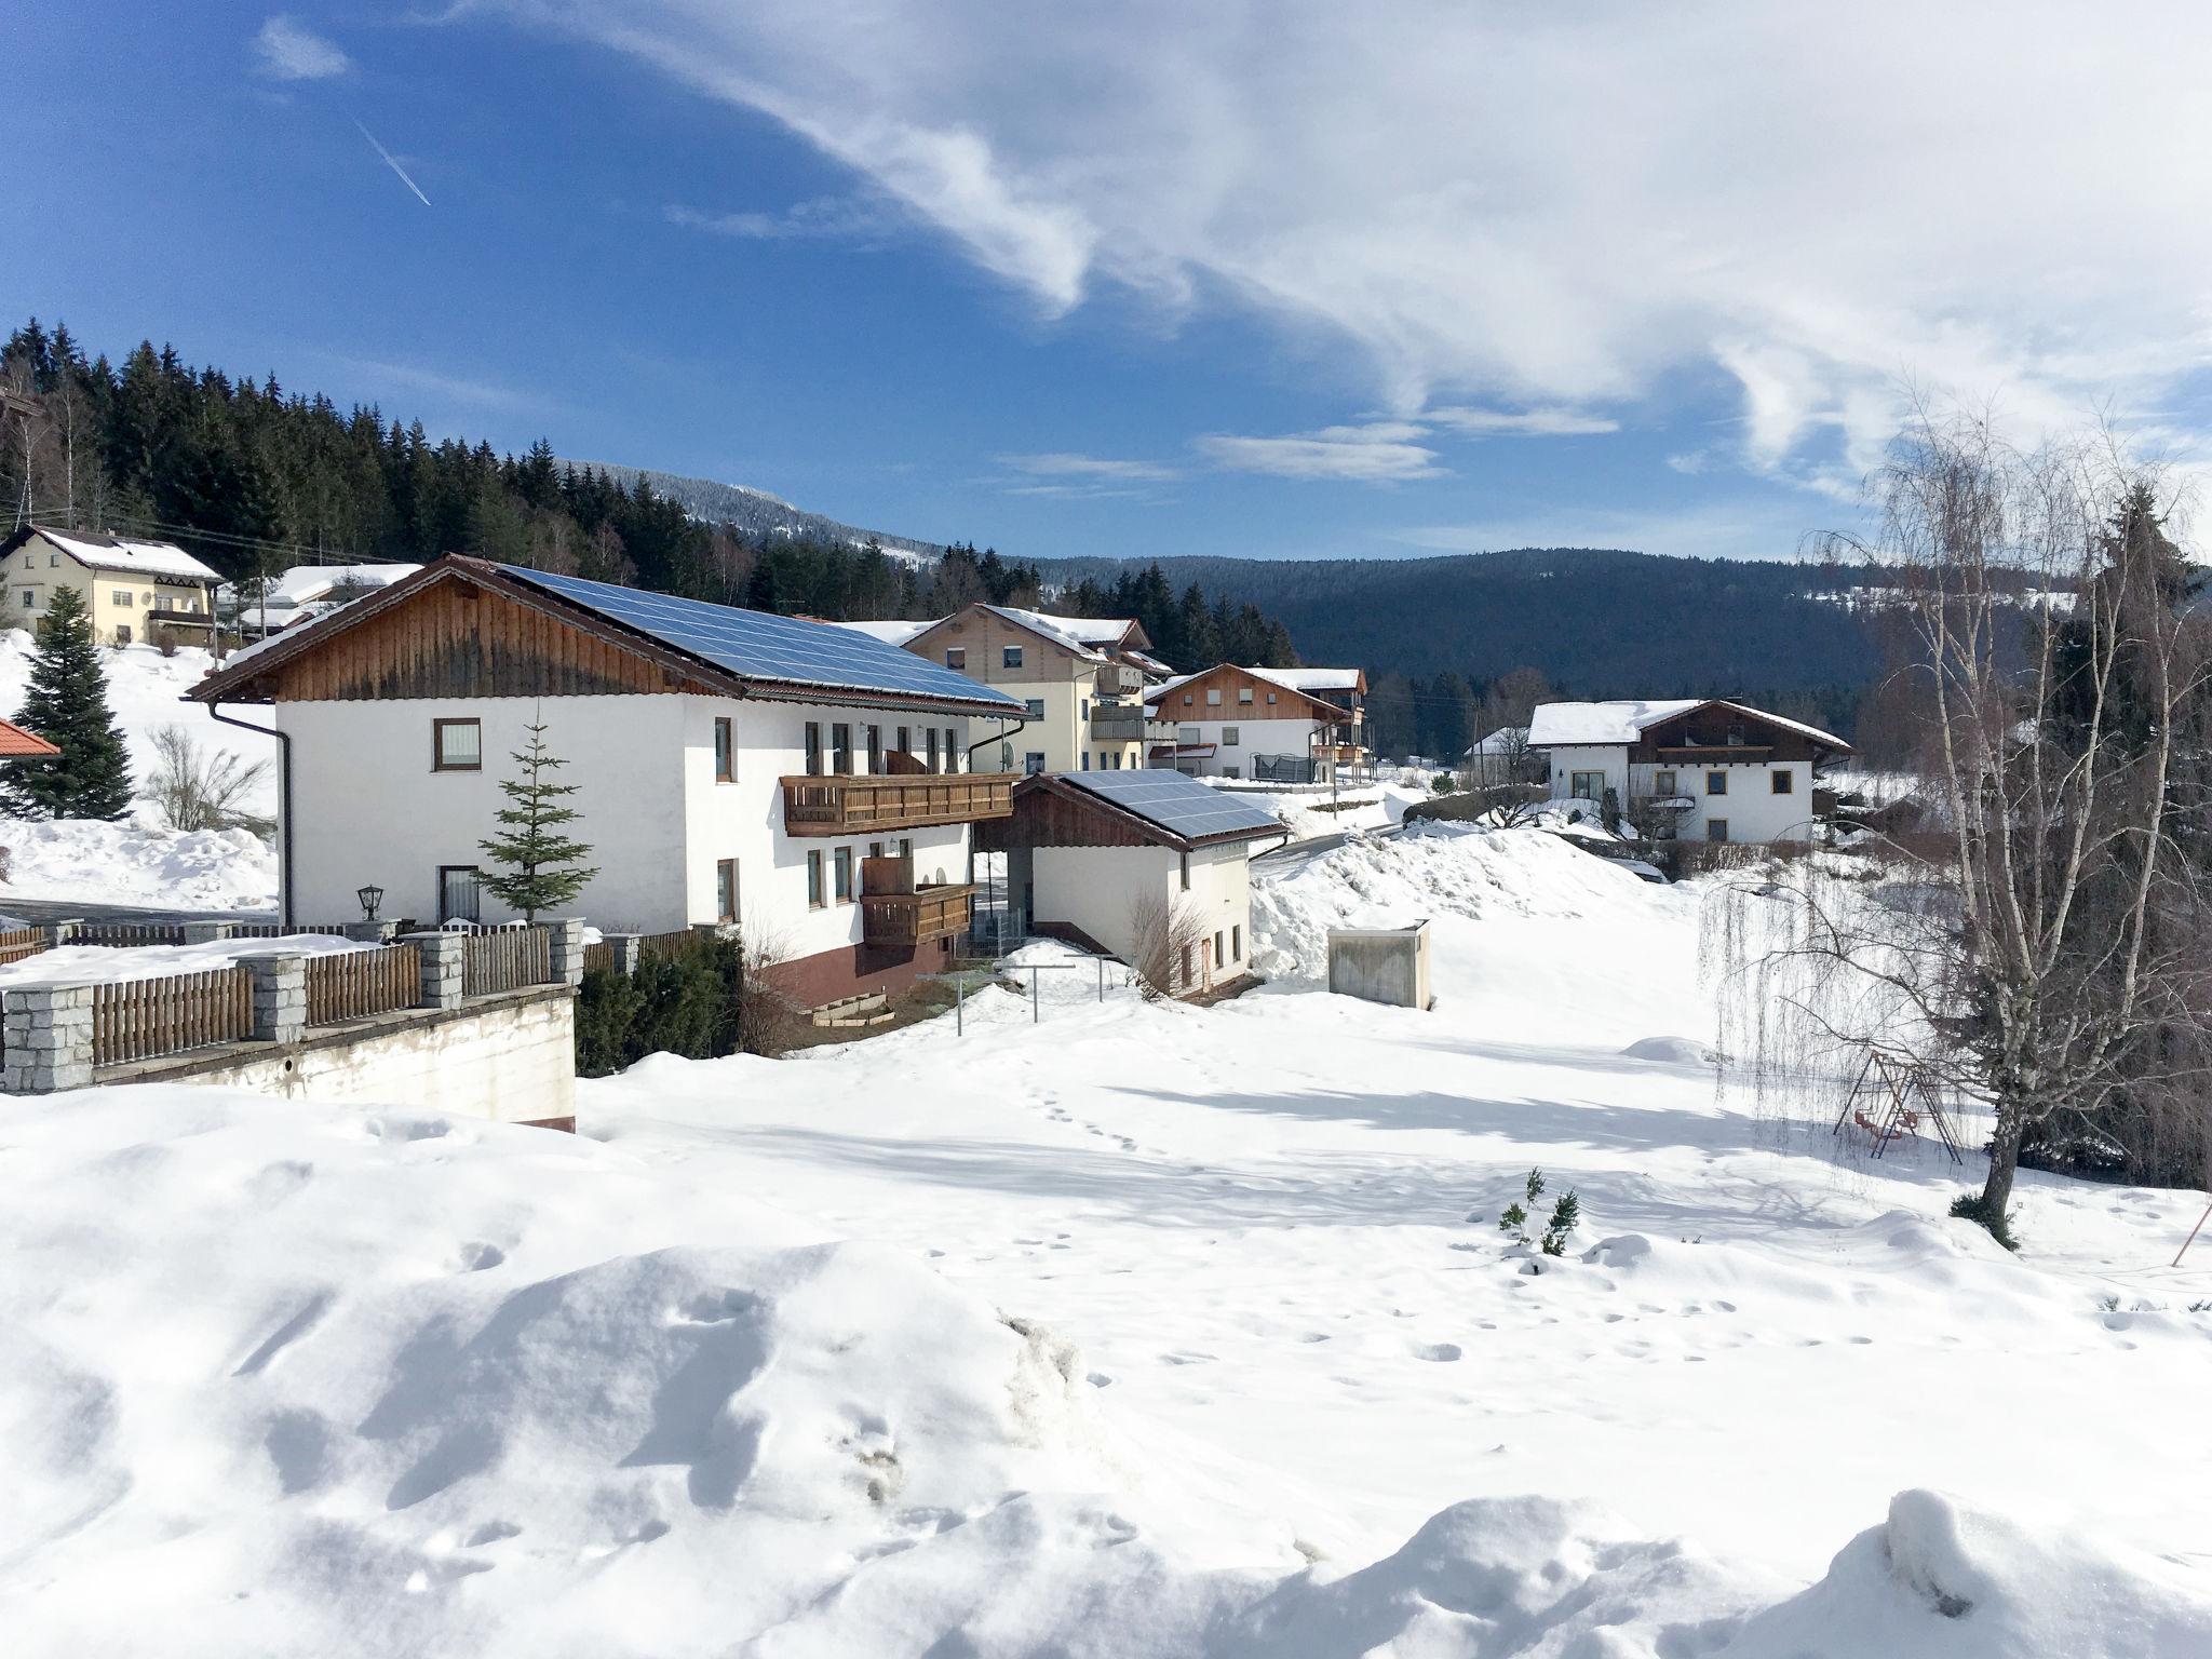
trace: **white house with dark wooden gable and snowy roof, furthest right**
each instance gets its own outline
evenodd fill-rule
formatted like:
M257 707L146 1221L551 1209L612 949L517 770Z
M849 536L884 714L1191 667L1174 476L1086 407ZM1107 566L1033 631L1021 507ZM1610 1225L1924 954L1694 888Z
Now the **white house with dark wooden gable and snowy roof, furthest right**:
M1721 699L1537 703L1528 748L1555 801L1597 801L1659 838L1812 841L1814 779L1851 745Z

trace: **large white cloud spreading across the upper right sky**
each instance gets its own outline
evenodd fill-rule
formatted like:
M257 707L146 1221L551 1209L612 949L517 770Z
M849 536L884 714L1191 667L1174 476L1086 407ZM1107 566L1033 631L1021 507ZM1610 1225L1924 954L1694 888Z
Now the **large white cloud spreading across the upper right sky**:
M1407 416L1719 369L1736 458L1818 484L1907 374L2048 425L2212 361L2212 217L2174 206L2212 104L2141 58L2212 80L2201 7L478 4L763 111L1046 314L1237 305Z

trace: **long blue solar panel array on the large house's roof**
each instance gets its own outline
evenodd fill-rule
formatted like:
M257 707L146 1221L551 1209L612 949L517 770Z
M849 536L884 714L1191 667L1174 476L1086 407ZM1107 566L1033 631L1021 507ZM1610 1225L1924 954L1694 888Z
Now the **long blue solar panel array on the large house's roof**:
M672 593L617 588L611 582L586 582L575 575L549 575L502 564L507 575L557 593L604 617L648 633L677 650L690 653L732 675L781 679L825 690L898 692L902 697L938 697L960 703L1000 703L1018 714L1022 703L991 690L967 675L940 668L911 650L887 646L852 628L827 622L779 617L768 611L739 611L706 599L679 599Z

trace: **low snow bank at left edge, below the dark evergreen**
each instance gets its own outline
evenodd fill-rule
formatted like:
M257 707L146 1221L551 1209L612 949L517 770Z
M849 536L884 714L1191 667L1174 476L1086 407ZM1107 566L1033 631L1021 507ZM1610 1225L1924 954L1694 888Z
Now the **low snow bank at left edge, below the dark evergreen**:
M58 818L0 823L9 880L24 898L77 905L261 911L276 905L276 849L250 830L148 830Z

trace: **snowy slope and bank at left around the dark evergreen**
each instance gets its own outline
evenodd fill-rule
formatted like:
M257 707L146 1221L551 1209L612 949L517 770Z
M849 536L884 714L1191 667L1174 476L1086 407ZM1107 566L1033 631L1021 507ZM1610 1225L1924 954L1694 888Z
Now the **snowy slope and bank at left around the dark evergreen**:
M206 650L186 646L164 657L153 646L124 646L102 650L100 664L108 677L108 708L131 750L135 787L144 790L153 776L155 732L179 726L206 752L237 754L248 765L265 761L259 783L239 805L263 818L276 816L276 741L223 726L199 703L181 701L212 666ZM0 630L0 714L22 708L29 681L31 635ZM243 719L265 721L265 710ZM9 852L0 909L9 896L184 911L276 907L276 852L268 843L246 830L179 834L164 827L146 803L126 823L7 823L0 825L0 845Z

